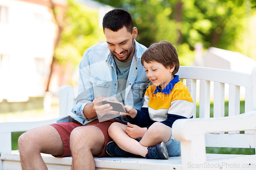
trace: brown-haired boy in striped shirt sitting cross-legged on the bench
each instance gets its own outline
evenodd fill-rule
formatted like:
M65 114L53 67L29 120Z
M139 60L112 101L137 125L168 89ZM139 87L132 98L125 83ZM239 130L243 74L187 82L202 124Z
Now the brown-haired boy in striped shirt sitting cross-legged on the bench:
M172 136L172 125L176 119L192 116L193 99L175 75L179 70L176 49L167 41L154 43L143 53L141 64L153 85L145 92L141 110L124 106L127 112L120 114L132 124L110 126L109 135L115 142L106 145L106 152L114 157L135 154L148 159L179 156L180 142Z

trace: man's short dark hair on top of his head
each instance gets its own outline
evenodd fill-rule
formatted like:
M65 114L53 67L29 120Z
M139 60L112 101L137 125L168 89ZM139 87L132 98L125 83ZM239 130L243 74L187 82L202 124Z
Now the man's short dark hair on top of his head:
M105 14L102 21L103 31L108 28L114 32L126 27L127 31L133 33L133 19L132 15L122 9L114 9Z

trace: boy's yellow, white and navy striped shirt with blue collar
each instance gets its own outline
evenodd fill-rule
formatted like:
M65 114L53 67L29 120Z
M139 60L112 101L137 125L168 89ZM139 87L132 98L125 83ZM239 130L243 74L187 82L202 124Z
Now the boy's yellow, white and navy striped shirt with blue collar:
M193 99L178 75L174 75L174 79L162 91L154 85L149 86L144 99L136 117L127 116L132 124L148 128L154 122L161 122L172 127L175 120L192 116Z

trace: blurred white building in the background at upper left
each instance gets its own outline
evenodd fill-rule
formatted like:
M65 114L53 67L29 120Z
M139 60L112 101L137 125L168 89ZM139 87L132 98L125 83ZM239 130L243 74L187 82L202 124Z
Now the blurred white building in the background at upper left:
M44 96L56 31L50 1L0 0L0 102Z

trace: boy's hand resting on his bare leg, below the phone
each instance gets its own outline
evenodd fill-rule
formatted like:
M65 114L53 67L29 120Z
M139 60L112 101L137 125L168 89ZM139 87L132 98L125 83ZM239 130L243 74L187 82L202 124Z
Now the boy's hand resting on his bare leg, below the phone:
M147 131L147 128L141 128L137 125L130 124L129 122L127 123L127 125L128 126L126 128L126 133L133 139L143 137Z

